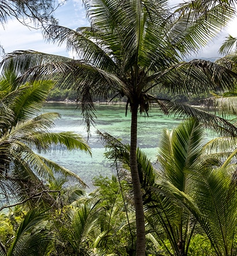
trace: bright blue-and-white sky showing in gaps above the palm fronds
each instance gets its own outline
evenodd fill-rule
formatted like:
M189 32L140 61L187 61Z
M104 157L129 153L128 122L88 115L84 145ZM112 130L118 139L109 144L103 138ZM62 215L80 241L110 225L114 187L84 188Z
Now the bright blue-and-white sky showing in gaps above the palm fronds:
M61 1L61 0L60 0ZM170 0L175 3L179 0ZM82 5L82 0L67 0L63 6L60 6L54 16L59 21L61 26L69 27L70 29L76 29L81 26L88 26L89 22L85 17L85 9ZM210 42L209 45L194 58L206 58L215 59L220 56L218 49L221 43L224 41L228 34L237 36L237 18L234 19L229 26ZM20 24L17 20L8 20L4 28L0 25L0 45L4 48L6 53L16 50L31 49L34 51L45 52L48 54L56 54L73 57L71 52L67 52L65 45L59 47L52 42L46 42L43 39L41 30L29 29L26 26ZM1 59L1 56L0 56Z

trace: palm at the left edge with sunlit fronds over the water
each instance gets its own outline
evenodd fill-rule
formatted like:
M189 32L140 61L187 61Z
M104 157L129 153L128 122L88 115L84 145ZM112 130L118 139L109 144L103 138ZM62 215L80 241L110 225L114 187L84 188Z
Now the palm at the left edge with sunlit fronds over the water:
M26 201L37 200L47 194L46 191L49 189L45 186L45 181L55 180L55 173L77 180L85 186L85 183L70 170L37 154L52 150L53 147L78 149L90 154L89 146L78 134L50 131L59 114L39 115L39 110L53 86L52 82L35 81L32 84L21 85L17 79L14 73L6 72L0 80L2 196L6 196L5 200L9 200L9 195L21 197ZM49 194L48 200L52 200Z

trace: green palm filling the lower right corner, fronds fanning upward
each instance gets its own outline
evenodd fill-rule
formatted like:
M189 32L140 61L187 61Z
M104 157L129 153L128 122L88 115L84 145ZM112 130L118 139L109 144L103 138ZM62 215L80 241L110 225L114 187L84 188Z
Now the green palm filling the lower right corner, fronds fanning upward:
M230 141L216 138L202 148L202 165L186 170L191 183L185 184L191 193L158 182L162 195L192 214L192 223L202 227L218 256L236 255L236 150L232 151Z

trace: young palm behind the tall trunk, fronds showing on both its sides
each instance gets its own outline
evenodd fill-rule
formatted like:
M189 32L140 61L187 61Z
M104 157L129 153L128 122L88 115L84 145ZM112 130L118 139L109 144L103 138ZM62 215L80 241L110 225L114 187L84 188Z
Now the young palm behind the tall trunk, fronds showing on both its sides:
M189 245L196 232L196 221L181 200L177 202L174 193L184 194L183 200L192 203L192 170L200 168L204 130L195 120L187 120L172 132L164 130L159 155L159 170L156 170L147 156L137 150L137 166L143 188L147 239L156 240L166 248L169 255L188 255ZM107 141L107 157L123 163L129 168L129 145L101 134ZM167 185L169 184L169 186ZM166 186L173 187L170 193ZM177 191L178 192L177 192ZM187 197L187 198L186 198ZM195 231L195 232L194 232ZM170 246L165 246L169 240ZM160 245L161 247L161 245Z

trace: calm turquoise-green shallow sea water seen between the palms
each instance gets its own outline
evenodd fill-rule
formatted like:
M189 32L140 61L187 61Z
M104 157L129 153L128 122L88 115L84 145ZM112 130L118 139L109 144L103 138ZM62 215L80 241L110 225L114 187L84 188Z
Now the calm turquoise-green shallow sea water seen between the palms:
M129 143L130 113L125 116L125 105L98 104L95 127L90 131L88 144L92 148L92 157L81 151L57 151L46 155L49 159L63 165L79 175L83 181L92 187L94 176L111 176L114 172L111 162L104 158L104 146L96 134L96 130L107 132L123 143ZM54 131L75 131L87 138L85 123L81 111L75 104L48 103L43 112L60 113L61 118L56 121ZM150 116L141 115L138 118L138 147L151 159L156 161L159 138L163 129L172 130L181 123L182 119L165 116L158 108L152 108Z

